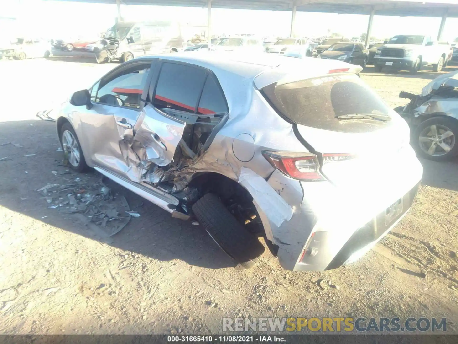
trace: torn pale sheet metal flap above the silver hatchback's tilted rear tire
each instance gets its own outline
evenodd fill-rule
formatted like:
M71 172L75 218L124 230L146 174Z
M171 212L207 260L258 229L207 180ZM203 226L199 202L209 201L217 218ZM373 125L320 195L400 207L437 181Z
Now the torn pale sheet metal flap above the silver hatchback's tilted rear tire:
M277 227L284 221L291 220L293 208L256 172L242 167L239 183L248 190L256 204Z

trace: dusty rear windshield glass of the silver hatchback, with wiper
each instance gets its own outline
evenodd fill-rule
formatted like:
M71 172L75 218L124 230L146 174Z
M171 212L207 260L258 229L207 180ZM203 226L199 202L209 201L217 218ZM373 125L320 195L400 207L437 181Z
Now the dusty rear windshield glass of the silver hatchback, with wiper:
M391 111L355 74L342 73L291 83L273 83L262 88L262 93L289 122L308 127L356 133L377 130L390 123L337 118L354 114L388 116Z

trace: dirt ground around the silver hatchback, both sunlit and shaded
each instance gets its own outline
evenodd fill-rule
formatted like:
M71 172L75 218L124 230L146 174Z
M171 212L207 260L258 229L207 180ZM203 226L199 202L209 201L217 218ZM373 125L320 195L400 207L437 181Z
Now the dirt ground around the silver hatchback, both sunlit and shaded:
M0 61L1 334L222 333L226 316L447 317L458 333L457 161L422 161L409 213L360 261L327 272L284 271L268 250L256 268L235 270L201 227L113 183L141 216L109 239L48 208L36 190L100 176L65 173L55 123L35 113L114 66ZM419 93L437 75L367 67L361 78L395 107L405 104L399 91Z

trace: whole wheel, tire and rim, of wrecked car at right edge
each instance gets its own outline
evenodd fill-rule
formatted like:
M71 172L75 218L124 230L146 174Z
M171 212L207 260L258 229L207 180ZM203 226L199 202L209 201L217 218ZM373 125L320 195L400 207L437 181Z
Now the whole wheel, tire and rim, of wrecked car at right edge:
M444 161L458 154L458 121L451 117L432 117L416 128L413 146L417 153L435 161Z

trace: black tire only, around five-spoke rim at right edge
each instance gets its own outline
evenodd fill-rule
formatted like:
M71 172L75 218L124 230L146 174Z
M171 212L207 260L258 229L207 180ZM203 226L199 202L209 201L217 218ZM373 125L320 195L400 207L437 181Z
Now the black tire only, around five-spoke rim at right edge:
M454 145L452 149L443 155L429 155L420 147L420 134L422 131L431 125L440 125L450 129L454 136ZM438 116L431 117L424 122L421 122L414 131L412 146L419 156L425 159L434 161L446 161L458 155L458 121L451 117Z

